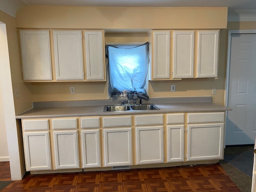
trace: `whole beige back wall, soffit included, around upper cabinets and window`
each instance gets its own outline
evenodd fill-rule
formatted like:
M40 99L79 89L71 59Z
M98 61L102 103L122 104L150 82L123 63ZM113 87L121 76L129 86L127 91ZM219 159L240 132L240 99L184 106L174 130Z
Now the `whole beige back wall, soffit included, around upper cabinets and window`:
M47 12L47 14L45 14ZM150 18L149 18L150 16ZM220 29L226 28L227 8L106 8L26 6L16 14L18 28L101 28L112 29L106 42L144 42L146 33L120 33L120 29ZM113 29L119 29L113 33ZM127 31L129 31L127 30ZM221 32L222 33L222 32ZM221 44L221 43L220 43ZM223 51L222 48L220 50ZM220 54L218 79L182 79L149 82L150 97L209 96L217 88L213 102L224 103L224 55ZM170 92L176 84L176 92ZM106 82L25 83L33 101L107 99ZM70 94L74 86L76 94Z

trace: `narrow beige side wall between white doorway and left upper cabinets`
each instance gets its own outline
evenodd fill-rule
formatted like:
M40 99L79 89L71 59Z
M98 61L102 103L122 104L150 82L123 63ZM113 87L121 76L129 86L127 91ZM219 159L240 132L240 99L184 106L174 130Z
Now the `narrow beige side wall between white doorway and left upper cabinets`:
M22 82L21 78L20 51L16 19L0 11L0 21L6 24L12 88L13 90L19 89L20 92L20 97L14 97L15 114L20 114L32 107L32 94L28 89L28 86Z

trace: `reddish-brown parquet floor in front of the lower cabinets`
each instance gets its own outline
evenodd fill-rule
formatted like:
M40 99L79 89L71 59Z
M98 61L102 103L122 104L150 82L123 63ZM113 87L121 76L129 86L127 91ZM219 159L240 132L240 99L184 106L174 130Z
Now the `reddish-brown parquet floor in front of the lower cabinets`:
M10 180L0 162L0 180ZM1 192L240 192L219 164L70 174L26 175Z

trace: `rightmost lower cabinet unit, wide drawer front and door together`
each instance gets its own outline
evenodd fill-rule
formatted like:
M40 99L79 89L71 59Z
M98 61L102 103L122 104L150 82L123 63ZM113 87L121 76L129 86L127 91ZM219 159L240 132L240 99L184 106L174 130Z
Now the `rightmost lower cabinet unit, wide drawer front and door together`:
M188 114L188 123L197 123L188 124L188 161L223 158L224 116L224 112Z

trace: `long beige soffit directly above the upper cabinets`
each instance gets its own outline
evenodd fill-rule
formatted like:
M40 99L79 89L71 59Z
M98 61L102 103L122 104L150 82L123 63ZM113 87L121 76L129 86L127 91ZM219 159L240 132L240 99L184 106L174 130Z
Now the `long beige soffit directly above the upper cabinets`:
M19 28L205 29L226 28L227 7L23 6Z

